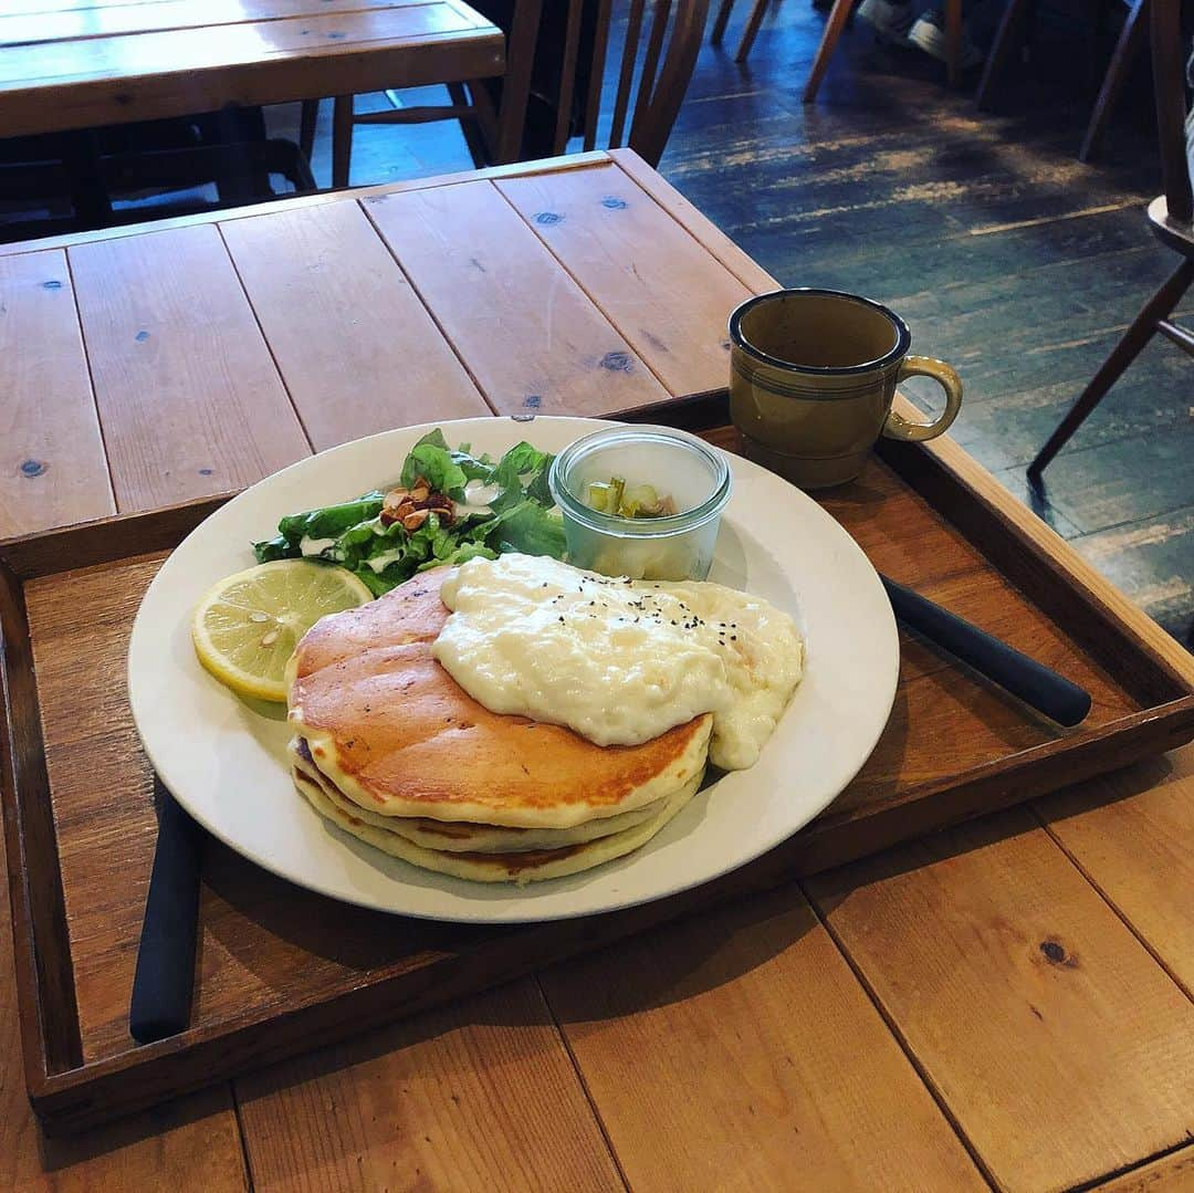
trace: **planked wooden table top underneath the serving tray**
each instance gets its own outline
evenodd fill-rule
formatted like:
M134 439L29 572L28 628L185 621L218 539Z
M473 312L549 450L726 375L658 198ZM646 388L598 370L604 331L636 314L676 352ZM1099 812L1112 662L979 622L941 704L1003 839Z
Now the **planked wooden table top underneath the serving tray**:
M0 535L715 388L774 285L624 150L0 247ZM0 1186L1192 1188L1192 840L1188 748L67 1142L0 976Z

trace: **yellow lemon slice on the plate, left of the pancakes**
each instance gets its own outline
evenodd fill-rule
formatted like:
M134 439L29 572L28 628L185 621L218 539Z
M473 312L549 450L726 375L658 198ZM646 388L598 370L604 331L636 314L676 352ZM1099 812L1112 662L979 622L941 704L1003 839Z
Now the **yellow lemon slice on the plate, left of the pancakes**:
M260 564L220 580L199 602L191 622L195 653L233 691L284 701L298 639L320 617L371 599L343 567L304 559Z

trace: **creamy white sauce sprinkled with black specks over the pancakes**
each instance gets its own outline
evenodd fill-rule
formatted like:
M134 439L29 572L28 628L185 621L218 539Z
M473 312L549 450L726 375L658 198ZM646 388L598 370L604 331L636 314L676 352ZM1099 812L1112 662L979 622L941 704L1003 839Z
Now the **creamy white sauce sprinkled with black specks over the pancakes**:
M720 584L598 576L546 556L473 559L443 582L432 653L491 712L635 745L713 713L709 760L758 760L800 681L793 620Z

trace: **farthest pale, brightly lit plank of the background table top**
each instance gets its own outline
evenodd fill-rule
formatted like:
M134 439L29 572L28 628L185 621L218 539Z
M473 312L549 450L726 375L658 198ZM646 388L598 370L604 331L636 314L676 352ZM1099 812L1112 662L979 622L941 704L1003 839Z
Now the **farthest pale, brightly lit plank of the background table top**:
M152 4L37 6L0 16L0 48L86 41L118 33L210 29L284 17L347 16L369 8L399 8L423 0L154 0Z

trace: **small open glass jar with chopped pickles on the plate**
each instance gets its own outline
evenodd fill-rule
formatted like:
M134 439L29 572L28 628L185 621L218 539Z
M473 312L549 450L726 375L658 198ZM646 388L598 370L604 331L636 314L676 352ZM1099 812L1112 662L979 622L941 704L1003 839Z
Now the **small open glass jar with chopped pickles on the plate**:
M620 476L651 485L677 512L628 518L592 509L589 486ZM713 565L730 466L707 443L661 426L611 426L570 444L552 462L552 497L564 515L568 562L636 580L703 580Z

